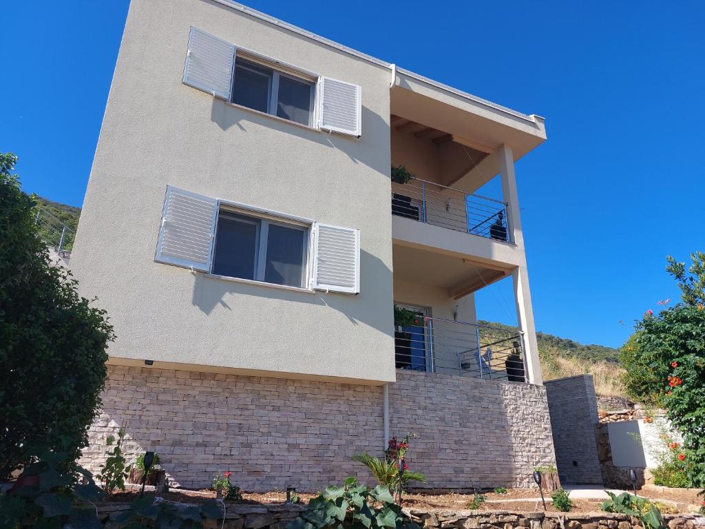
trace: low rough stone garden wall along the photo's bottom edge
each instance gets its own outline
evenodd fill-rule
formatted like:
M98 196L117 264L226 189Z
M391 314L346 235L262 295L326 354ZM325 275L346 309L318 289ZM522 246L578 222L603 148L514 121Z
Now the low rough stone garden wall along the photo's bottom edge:
M106 529L116 526L116 516L127 504L99 506ZM285 529L305 508L300 505L226 504L225 523L204 521L204 529ZM638 518L613 513L544 513L519 511L428 511L402 509L407 521L429 529L643 529ZM695 514L666 515L668 529L701 529L705 518Z

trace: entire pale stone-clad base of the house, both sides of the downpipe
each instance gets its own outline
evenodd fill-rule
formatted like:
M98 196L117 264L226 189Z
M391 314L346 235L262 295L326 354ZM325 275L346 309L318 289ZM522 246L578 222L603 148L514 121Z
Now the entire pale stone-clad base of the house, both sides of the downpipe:
M321 490L382 456L382 387L109 366L103 409L80 463L97 472L109 434L125 427L130 458L157 451L173 485L200 488L230 470L244 490ZM529 485L555 463L544 387L398 371L391 433L412 440L427 487ZM368 482L371 482L368 478Z

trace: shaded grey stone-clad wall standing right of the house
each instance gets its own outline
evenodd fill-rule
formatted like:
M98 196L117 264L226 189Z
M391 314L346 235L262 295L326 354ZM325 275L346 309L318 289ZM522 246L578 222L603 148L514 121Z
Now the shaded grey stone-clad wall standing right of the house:
M551 380L545 384L560 480L601 485L595 432L598 415L592 375Z

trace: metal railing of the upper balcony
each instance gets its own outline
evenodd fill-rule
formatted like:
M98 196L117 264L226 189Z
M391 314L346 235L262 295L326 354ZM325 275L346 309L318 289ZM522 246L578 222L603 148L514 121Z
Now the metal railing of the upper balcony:
M505 202L421 178L392 183L392 214L434 226L509 241Z

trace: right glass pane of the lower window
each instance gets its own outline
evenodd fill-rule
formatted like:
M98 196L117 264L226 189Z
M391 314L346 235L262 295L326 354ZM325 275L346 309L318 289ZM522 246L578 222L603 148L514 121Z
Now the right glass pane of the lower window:
M306 231L269 224L264 281L278 285L304 286L303 258Z

